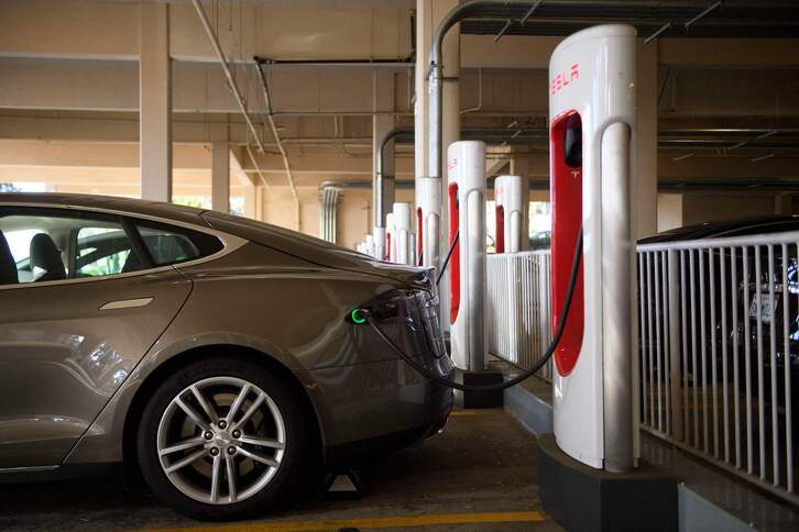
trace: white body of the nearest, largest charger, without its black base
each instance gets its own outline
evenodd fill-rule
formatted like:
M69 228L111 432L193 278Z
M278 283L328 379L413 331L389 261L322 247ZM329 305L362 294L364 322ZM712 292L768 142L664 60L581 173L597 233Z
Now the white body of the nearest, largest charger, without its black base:
M566 38L549 63L552 328L578 232L581 275L555 353L557 445L598 469L630 470L635 279L631 217L635 132L635 30L591 27Z

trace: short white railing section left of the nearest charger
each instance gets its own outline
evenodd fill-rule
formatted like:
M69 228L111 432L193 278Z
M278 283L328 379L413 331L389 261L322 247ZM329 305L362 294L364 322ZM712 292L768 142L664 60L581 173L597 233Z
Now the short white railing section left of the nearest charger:
M489 351L519 368L540 358L549 328L549 252L492 254L488 257ZM551 375L551 364L538 374Z

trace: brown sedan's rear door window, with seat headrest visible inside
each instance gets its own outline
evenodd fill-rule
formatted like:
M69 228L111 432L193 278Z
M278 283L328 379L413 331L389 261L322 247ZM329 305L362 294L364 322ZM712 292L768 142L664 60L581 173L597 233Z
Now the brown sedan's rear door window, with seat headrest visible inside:
M0 209L0 284L102 277L142 269L120 217L73 210ZM15 270L15 275L13 275Z

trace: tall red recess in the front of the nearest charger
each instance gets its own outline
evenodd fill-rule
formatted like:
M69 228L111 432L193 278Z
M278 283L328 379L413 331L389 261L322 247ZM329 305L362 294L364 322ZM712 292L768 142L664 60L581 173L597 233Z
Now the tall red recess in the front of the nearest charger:
M549 134L550 196L552 206L551 277L552 331L558 329L569 276L574 258L574 244L582 226L582 120L576 111L552 121ZM560 375L571 373L580 355L583 335L582 263L571 301L563 336L555 352L555 365Z

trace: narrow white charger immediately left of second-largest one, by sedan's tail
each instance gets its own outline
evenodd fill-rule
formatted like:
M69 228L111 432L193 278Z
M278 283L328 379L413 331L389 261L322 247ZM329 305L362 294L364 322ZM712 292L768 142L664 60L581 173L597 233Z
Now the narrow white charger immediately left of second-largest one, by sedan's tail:
M441 180L420 177L416 187L416 255L425 267L441 266Z

